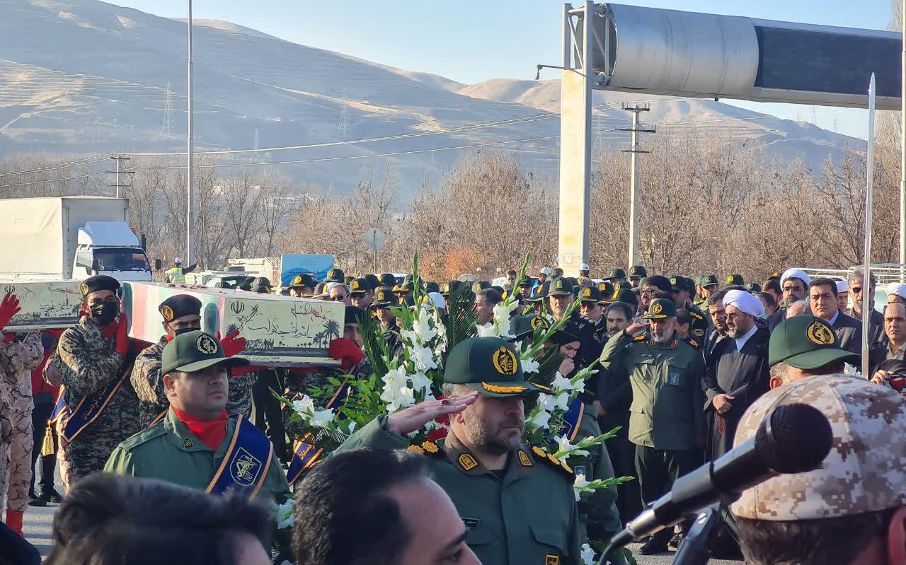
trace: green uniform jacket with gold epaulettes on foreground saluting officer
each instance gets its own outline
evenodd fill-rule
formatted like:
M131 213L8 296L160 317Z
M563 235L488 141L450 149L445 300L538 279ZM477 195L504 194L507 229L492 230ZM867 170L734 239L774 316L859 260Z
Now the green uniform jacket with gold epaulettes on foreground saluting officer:
M378 417L338 449L405 449L408 439L384 429ZM486 565L577 565L579 516L573 472L541 448L513 452L503 478L488 471L450 433L411 449L431 458L434 480L466 523L466 543Z

